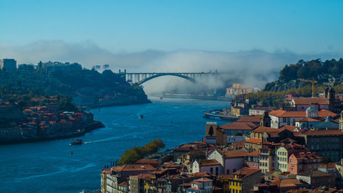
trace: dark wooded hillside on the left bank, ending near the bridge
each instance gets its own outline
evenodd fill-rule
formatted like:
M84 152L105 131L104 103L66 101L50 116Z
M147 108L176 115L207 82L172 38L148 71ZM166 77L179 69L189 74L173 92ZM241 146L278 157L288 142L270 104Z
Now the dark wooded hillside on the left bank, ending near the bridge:
M65 73L54 71L47 73L43 69L37 70L0 70L0 99L27 104L31 98L40 95L60 95L60 108L65 111L75 109L71 104L71 98L77 94L80 88L100 89L108 93L121 93L136 96L139 100L146 100L143 88L139 84L128 86L123 74L105 70L99 73L89 69L75 69ZM63 96L64 95L64 96Z

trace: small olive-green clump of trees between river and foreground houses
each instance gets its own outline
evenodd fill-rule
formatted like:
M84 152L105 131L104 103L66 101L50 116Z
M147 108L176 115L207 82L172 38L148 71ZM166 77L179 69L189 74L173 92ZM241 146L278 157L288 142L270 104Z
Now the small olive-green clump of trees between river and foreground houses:
M160 148L164 147L165 144L163 144L161 139L154 139L149 144L145 144L145 146L130 148L130 150L126 150L124 154L121 155L119 164L123 166L125 164L135 163L139 159L143 159L147 155L158 152Z

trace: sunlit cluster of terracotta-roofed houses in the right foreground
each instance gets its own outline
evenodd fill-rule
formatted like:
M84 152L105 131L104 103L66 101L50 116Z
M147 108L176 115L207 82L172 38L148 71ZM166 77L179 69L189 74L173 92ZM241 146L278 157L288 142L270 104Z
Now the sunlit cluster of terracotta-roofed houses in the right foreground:
M343 118L331 111L332 94L207 122L203 141L174 148L174 161L104 168L102 192L343 192Z

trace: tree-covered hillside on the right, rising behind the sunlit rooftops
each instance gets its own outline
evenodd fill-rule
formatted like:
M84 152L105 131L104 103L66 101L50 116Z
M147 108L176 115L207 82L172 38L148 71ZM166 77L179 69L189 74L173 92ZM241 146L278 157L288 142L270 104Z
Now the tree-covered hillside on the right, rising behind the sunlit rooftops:
M316 93L322 93L325 87L333 87L335 91L341 92L343 59L326 60L320 59L304 61L299 60L296 64L285 65L280 71L279 79L265 84L263 91L248 93L244 96L237 95L235 100L240 98L250 100L250 104L261 106L274 106L279 108L287 93L296 93L301 97L311 97L311 82L304 80L315 80Z

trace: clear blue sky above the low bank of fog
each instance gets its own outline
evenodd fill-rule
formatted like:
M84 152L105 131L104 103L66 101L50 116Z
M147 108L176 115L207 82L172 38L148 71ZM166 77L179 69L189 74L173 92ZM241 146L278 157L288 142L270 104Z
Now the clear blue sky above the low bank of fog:
M0 42L343 53L343 1L0 1Z

